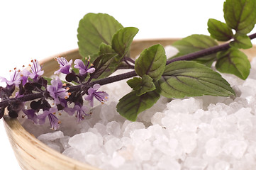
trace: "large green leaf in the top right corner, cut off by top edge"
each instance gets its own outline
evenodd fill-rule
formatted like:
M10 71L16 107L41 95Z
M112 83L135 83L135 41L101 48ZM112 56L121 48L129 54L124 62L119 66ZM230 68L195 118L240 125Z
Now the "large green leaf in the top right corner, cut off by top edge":
M230 28L241 34L250 33L256 23L256 0L226 0L224 18Z

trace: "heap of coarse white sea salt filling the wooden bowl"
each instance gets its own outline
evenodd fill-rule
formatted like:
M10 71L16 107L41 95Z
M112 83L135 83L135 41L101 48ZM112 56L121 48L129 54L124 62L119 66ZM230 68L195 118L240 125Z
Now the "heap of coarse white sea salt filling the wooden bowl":
M130 92L124 80L102 86L109 100L80 123L62 114L52 132L48 123L21 122L49 147L100 169L255 169L256 60L251 64L245 81L222 74L236 97L160 98L130 122L116 112L118 99Z

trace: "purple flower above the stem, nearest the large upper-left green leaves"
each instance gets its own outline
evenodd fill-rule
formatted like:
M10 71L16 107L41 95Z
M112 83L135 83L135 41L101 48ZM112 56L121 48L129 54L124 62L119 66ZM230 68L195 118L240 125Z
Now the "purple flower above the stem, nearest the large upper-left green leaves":
M80 59L74 60L74 68L79 69L79 73L82 75L87 73L93 73L95 71L95 68L92 67L93 65L90 64L90 60L87 60L87 58L85 60L85 64Z

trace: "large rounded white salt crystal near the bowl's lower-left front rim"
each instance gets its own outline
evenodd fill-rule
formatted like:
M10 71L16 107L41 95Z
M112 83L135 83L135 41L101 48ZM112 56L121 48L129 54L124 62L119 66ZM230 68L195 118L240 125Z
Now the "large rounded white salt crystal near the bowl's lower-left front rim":
M80 133L69 139L69 145L74 149L80 149L82 154L93 153L101 148L103 139L92 132Z

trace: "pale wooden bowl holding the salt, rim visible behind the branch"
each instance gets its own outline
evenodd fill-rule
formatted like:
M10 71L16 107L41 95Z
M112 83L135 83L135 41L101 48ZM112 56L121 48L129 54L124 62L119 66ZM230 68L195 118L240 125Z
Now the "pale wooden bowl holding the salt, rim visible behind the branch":
M142 50L151 45L160 43L164 46L171 45L172 42L178 39L161 39L161 40L135 40L131 46L130 54L132 57L139 55ZM254 55L256 56L256 46L249 50L244 50L249 59L251 60ZM50 76L58 69L57 62L52 62L57 56L65 56L67 60L80 58L78 50L71 50L63 52L52 57L48 57L43 60L43 68L45 70L45 76ZM96 170L96 167L78 162L77 160L66 157L54 149L51 149L47 145L37 140L32 134L27 132L18 122L17 119L4 116L4 127L6 133L13 147L14 154L18 160L18 163L23 170L84 170L91 169Z

